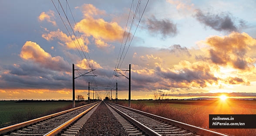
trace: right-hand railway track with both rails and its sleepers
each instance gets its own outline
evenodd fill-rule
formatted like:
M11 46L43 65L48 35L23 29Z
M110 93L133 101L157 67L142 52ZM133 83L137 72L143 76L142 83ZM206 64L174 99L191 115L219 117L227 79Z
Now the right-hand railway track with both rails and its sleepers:
M108 105L149 136L227 136L117 104Z

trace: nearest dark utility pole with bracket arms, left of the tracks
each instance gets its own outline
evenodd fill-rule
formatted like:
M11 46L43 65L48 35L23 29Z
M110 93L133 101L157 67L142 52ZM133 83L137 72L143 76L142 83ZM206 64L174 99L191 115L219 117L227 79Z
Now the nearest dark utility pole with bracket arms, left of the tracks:
M74 71L77 71L79 76L75 77L74 75ZM76 78L80 78L80 77L85 77L85 76L97 76L97 75L85 75L85 74L88 74L90 73L91 71L94 71L95 69L74 69L74 63L72 64L72 73L73 73L73 77L72 77L72 82L73 82L73 102L72 102L72 105L73 105L73 108L75 108L75 79ZM82 74L80 71L88 71L84 74Z

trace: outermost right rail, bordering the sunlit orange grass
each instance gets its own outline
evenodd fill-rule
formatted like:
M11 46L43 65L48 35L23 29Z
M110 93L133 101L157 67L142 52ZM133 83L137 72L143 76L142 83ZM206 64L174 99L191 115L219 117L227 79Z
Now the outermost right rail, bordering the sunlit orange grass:
M114 103L111 103L111 104L114 104ZM165 117L160 117L160 116L157 116L157 115L154 115L154 114L151 114L151 113L146 113L146 112L143 112L143 111L140 111L140 110L135 110L135 109L128 108L128 107L125 107L125 106L121 106L121 105L118 105L118 104L114 104L114 105L117 105L119 107L123 107L127 110L131 110L131 111L134 111L136 113L140 113L140 114L148 116L148 117L152 117L156 120L160 120L160 121L165 122L165 123L170 123L170 124L173 124L175 126L179 126L180 128L183 128L185 130L189 130L189 131L197 133L199 135L203 135L203 136L228 136L228 135L225 135L225 134L222 134L222 133L214 132L214 131L211 131L211 130L206 130L206 129L203 129L203 128L200 128L200 127L197 127L197 126L192 126L192 125L182 123L182 122L179 122L179 121L176 121L176 120L167 119Z

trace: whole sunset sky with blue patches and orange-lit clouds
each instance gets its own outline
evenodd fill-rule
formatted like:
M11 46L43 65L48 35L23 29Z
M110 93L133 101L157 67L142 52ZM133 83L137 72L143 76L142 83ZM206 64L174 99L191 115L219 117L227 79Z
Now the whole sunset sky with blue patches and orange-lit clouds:
M1 0L0 100L256 97L255 0ZM75 71L75 77L88 71ZM128 72L120 71L128 77ZM119 74L120 75L120 74ZM96 87L97 86L97 87ZM94 93L92 92L94 89ZM112 98L115 98L113 87Z

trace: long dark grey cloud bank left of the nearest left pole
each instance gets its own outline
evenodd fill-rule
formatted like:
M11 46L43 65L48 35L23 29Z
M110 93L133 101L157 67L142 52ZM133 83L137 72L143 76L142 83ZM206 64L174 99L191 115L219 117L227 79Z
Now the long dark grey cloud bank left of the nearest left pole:
M67 71L58 71L56 68L45 68L37 63L23 62L19 65L9 65L7 72L1 74L2 88L27 89L63 89L69 88L71 82L71 66Z

